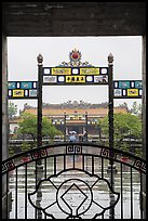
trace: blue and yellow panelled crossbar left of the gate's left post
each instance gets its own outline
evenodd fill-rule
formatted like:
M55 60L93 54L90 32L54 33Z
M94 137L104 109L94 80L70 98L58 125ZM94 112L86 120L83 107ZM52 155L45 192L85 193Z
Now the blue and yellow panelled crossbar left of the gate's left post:
M8 99L37 99L37 81L9 81Z

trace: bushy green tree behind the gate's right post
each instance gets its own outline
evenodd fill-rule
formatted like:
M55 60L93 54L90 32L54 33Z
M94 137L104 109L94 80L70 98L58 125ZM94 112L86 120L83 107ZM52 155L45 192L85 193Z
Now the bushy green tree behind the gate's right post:
M99 127L102 128L102 132L109 136L109 121L108 117L100 119L98 122ZM135 115L131 113L118 113L113 115L113 129L115 129L115 147L121 148L129 148L123 140L126 136L131 136L134 139L142 138L142 121Z

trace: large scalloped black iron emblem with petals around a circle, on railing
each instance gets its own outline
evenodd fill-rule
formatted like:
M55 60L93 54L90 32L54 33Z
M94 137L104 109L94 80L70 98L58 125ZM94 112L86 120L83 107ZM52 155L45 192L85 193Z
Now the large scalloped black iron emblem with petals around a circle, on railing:
M45 187L48 193L43 191ZM38 197L39 192L42 192L42 197ZM106 193L104 197L103 193ZM109 193L115 197L111 204ZM106 179L81 169L67 169L50 176L28 194L32 207L49 219L99 219L117 205L119 197L120 194L112 191Z

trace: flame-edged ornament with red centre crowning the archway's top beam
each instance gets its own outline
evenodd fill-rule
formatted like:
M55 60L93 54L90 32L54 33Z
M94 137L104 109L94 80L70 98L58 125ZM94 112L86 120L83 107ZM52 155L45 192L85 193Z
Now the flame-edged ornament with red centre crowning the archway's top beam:
M82 54L79 50L75 49L69 52L69 62L62 62L58 67L93 67L89 62L81 62Z

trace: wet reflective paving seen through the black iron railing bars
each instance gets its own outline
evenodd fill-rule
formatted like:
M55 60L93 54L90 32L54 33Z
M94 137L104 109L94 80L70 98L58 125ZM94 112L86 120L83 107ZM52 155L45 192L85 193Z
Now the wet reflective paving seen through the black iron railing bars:
M66 168L73 167L71 156L66 157ZM44 172L44 165L46 164L46 173ZM77 170L64 170L63 157L58 157L56 160L56 174L64 170L59 176L54 176L50 180L49 177L54 174L54 160L46 159L46 162L42 160L43 173L42 173L42 184L41 192L42 197L37 197L37 193L30 195L32 205L41 207L43 210L36 211L33 206L28 200L28 194L32 194L36 191L36 172L35 162L27 165L27 203L25 204L25 166L22 166L17 170L17 219L25 219L25 210L27 212L28 219L51 219L49 214L53 214L56 219L66 219L68 214L71 213L80 214L82 219L92 219L94 214L102 212L102 210L110 205L110 195L108 184L105 180L99 180L97 178L106 179L110 181L110 174L107 173L108 160L104 162L104 170L102 170L102 162L98 158L94 162L94 172L97 177L90 177L92 173L92 161L90 157L85 158L84 170L89 174L82 171L82 158L77 156L75 159L75 168ZM113 176L115 180L115 192L120 193L119 202L115 207L115 218L121 219L121 172L120 164L116 162L116 168L118 173ZM80 170L78 170L80 169ZM16 211L16 177L15 171L11 172L10 176L10 191L12 191L12 211L10 212L10 219L15 219ZM59 188L60 186L60 188ZM70 186L70 187L69 187ZM89 187L93 186L93 187ZM40 188L39 188L40 190ZM37 190L38 191L38 190ZM65 194L66 193L66 194ZM133 169L132 172L132 197L133 197L133 218L140 219L139 211L139 174ZM93 199L93 203L92 203ZM115 200L117 196L115 197ZM123 203L123 218L131 219L131 173L127 166L123 166L122 170L122 203ZM52 205L52 206L51 206ZM27 207L27 208L26 208ZM45 211L45 213L44 213ZM107 209L104 217L100 216L99 219L109 219L110 210ZM45 216L46 214L46 216Z

